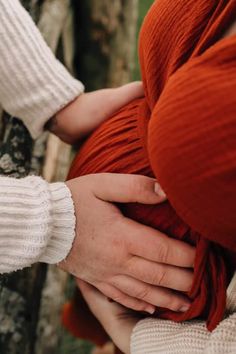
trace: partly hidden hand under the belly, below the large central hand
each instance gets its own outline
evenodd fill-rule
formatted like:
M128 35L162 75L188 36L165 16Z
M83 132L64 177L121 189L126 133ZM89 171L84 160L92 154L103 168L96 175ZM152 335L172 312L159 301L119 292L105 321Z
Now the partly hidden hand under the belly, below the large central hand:
M109 337L122 353L129 354L131 334L141 317L137 312L116 302L110 302L107 297L82 280L77 279L76 283L91 312L97 317Z

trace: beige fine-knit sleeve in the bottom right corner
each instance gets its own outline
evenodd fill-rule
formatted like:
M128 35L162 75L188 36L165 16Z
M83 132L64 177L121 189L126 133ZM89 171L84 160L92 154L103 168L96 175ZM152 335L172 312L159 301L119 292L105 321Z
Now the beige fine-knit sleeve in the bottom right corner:
M203 321L139 321L131 338L131 354L235 354L236 275L228 288L227 307L228 317L212 333Z

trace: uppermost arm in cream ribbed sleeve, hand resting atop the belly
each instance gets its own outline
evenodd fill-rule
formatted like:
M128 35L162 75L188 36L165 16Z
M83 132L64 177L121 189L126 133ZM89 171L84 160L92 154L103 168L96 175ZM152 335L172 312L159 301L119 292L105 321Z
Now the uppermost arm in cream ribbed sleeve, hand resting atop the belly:
M0 0L0 53L0 103L33 137L46 125L74 143L143 96L141 82L81 95L83 85L54 57L19 0Z

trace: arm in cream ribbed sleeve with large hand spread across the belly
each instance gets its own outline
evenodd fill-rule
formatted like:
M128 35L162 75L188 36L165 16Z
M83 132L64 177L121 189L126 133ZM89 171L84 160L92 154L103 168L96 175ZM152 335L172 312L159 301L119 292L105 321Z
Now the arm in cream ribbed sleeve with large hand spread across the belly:
M155 180L108 173L82 176L66 185L76 225L63 183L48 184L40 177L0 178L0 272L63 260L64 270L136 310L153 313L154 305L162 304L182 311L189 305L183 296L155 288L153 279L159 284L163 272L167 281L163 286L175 288L177 277L178 286L187 291L195 250L125 218L112 204L161 203L165 196ZM173 255L172 261L168 256L163 259L165 253Z

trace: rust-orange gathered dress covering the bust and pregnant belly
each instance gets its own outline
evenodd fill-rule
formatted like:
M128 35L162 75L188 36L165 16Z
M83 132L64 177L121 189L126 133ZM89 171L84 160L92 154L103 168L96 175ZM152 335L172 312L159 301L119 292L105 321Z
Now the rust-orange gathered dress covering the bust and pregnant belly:
M168 202L119 207L126 216L196 246L189 311L159 308L156 316L204 318L209 330L223 318L235 269L236 36L222 38L235 18L234 0L155 1L139 42L145 97L88 138L68 176L115 172L158 179ZM75 305L63 318L78 336L86 326L89 331ZM102 342L104 335L101 331Z

